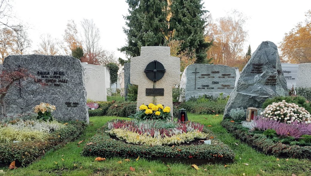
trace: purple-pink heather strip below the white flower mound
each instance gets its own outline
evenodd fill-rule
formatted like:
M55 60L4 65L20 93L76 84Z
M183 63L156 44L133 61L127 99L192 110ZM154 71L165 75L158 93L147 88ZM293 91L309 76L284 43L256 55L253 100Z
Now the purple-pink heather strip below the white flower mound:
M297 121L286 124L262 117L256 117L253 121L253 127L258 128L258 130L265 131L267 129L274 129L277 135L283 137L291 136L299 138L304 134L311 135L311 124L298 123Z

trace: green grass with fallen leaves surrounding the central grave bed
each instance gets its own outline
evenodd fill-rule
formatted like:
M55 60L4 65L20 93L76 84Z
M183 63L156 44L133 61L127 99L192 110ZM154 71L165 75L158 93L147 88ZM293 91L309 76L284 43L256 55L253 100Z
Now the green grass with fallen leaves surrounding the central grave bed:
M116 117L91 117L91 125L78 137L75 141L67 143L58 150L47 154L42 160L29 165L26 168L18 168L15 170L3 169L0 172L4 175L106 175L106 176L133 176L133 175L311 175L310 160L298 160L289 158L277 160L274 156L267 156L252 149L246 144L240 143L232 135L220 126L222 115L193 115L189 114L189 120L193 120L204 125L212 125L211 130L221 141L228 144L235 152L235 161L226 167L222 164L201 165L199 170L191 168L185 164L163 164L160 161L147 161L139 159L138 161L124 161L125 158L108 158L106 161L94 161L95 157L83 157L80 152L86 141L95 134L96 129L100 128L108 120ZM79 141L85 140L79 146ZM236 143L236 144L235 144ZM117 162L122 160L122 164ZM130 167L136 170L132 172ZM150 172L149 172L150 170Z

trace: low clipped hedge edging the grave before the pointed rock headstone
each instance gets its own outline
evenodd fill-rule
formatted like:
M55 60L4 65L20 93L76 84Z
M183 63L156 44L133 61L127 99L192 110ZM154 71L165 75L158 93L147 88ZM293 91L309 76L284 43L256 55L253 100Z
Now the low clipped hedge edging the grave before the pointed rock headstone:
M290 146L273 142L264 134L248 132L248 128L242 127L241 124L230 122L229 118L224 119L221 125L234 137L264 154L275 155L282 158L311 159L311 146Z

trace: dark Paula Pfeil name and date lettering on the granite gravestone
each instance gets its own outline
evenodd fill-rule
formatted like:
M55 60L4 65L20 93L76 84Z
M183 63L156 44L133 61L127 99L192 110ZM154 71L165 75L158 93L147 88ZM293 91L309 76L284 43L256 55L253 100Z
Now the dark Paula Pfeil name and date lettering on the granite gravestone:
M63 71L38 71L36 82L43 82L48 86L61 86L68 83L67 79L64 79L65 72Z

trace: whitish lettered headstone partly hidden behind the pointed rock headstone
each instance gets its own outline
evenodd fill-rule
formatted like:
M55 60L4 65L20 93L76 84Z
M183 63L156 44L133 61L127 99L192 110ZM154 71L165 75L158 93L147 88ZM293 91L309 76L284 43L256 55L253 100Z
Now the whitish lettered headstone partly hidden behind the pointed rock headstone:
M287 82L287 89L291 89L292 85L296 87L298 65L293 63L281 63L284 77Z

